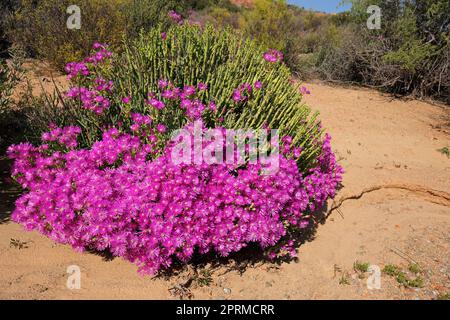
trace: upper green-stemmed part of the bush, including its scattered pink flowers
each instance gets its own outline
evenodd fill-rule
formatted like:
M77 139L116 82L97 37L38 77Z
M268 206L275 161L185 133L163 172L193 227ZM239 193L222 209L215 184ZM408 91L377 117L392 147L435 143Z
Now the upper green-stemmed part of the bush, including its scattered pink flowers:
M56 123L82 127L81 145L90 147L112 123L129 127L131 113L164 122L168 132L178 129L187 121L180 102L194 105L197 111L190 111L197 117L203 112L209 128L281 129L303 149L299 168L314 165L323 130L302 103L305 92L291 84L280 52L264 51L232 30L179 22L126 42L122 51L113 55L96 44L89 58L67 67L74 86L64 110L75 113L77 122Z

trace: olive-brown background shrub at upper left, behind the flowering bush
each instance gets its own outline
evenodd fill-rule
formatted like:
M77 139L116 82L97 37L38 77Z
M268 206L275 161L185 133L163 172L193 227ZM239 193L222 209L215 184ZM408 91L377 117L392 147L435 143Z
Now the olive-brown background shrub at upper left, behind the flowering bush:
M125 0L80 0L81 29L66 26L70 0L23 0L8 30L12 42L32 56L38 56L62 68L81 59L95 41L118 45L124 34Z

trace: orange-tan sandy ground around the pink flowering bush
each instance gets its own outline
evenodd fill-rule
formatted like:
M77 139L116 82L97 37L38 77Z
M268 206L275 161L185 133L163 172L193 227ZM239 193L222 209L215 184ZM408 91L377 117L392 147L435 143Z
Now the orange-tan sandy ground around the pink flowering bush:
M150 278L122 259L76 253L8 221L14 194L0 203L0 298L3 299L436 299L450 292L449 108L378 92L307 84L346 174L326 221L312 230L298 260L280 265L245 258L189 266ZM421 288L370 272L392 264ZM417 264L419 270L409 271ZM81 269L69 290L67 268ZM375 272L376 273L376 272ZM375 275L375 274L374 274Z

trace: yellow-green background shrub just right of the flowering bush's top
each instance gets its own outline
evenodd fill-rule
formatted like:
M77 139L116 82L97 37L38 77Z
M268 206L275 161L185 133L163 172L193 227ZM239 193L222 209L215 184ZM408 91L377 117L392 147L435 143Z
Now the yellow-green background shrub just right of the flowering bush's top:
M310 73L309 67L314 64L309 61L309 55L323 44L335 42L336 30L330 27L335 18L337 16L306 11L277 0L256 0L243 7L218 1L195 14L196 21L207 21L218 27L231 26L265 48L283 51L289 68L303 77Z

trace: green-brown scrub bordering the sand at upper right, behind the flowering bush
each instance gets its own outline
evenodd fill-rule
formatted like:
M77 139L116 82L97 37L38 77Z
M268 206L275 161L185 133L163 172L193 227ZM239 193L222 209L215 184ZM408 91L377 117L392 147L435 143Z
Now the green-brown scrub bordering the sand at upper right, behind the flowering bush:
M350 2L350 12L336 15L302 10L285 1L255 0L253 6L235 10L216 4L206 8L202 18L231 24L282 50L289 67L302 78L359 83L449 103L449 2ZM380 30L366 26L369 5L381 7Z

